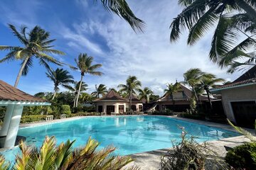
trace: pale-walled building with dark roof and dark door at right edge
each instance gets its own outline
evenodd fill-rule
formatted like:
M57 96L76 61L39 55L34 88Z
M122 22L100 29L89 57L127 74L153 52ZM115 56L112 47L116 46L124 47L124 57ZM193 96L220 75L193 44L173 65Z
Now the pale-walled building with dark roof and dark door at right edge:
M252 127L256 119L256 66L230 84L210 89L222 96L228 119L237 125Z

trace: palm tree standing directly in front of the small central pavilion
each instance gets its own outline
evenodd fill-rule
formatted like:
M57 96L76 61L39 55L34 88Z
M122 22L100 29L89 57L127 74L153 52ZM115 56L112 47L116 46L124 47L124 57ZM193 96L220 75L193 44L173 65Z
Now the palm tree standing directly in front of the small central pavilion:
M139 87L142 86L141 81L137 80L135 76L129 76L126 84L119 84L117 87L121 88L119 91L129 94L129 108L132 111L132 94L136 94L135 91L139 91Z

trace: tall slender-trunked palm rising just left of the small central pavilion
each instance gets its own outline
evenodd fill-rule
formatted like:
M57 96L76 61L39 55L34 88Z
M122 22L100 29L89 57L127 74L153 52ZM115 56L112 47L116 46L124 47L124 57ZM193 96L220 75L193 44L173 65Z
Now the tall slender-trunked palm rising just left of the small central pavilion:
M80 79L80 86L78 89L78 96L80 95L80 89L82 86L82 79L85 76L85 74L92 74L95 76L101 76L102 72L97 72L96 70L102 67L102 64L94 64L92 65L93 57L88 56L86 53L80 54L78 56L78 60L75 59L75 63L77 64L77 67L73 67L73 69L78 69L81 73L81 79ZM77 98L75 102L75 107L78 107L78 100Z

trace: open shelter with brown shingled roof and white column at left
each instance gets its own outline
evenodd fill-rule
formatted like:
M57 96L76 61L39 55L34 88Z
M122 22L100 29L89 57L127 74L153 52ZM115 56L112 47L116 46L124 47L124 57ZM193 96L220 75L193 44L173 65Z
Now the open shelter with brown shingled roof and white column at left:
M42 98L37 98L20 91L0 80L0 106L6 107L4 123L0 132L0 145L4 148L14 147L21 121L23 106L47 106Z

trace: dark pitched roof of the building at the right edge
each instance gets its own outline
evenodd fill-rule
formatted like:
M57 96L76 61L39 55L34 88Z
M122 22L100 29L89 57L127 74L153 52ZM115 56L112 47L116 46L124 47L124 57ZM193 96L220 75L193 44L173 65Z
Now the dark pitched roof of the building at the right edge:
M242 74L242 76L235 79L232 83L224 84L223 86L218 86L210 91L219 91L220 89L230 89L235 86L247 85L247 84L256 84L256 66L249 69L247 72Z

